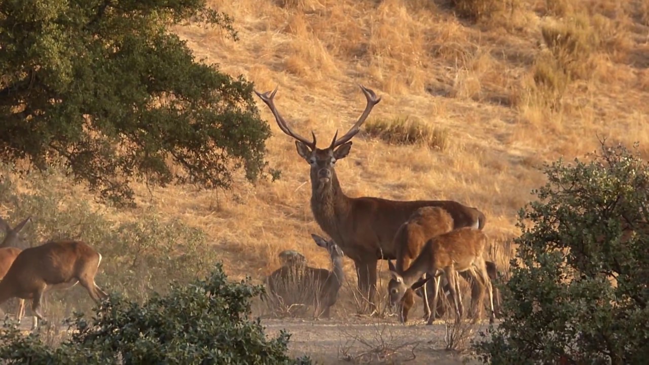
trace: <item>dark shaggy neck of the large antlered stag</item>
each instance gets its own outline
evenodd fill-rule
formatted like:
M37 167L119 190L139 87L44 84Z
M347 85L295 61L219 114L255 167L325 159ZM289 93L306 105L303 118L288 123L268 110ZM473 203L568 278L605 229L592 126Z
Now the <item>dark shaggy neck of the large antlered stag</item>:
M323 187L319 185L319 180L312 173L311 210L313 217L320 228L343 247L345 242L340 232L341 225L347 221L349 215L350 198L343 193L335 171L332 171L332 179L329 184Z

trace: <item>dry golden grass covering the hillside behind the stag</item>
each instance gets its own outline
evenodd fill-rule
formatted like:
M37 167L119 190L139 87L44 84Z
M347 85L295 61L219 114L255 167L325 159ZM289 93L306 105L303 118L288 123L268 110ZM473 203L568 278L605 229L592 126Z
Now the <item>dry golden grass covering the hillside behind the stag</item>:
M480 208L485 232L506 242L517 234L517 210L544 183L542 162L593 151L596 134L626 144L639 140L644 151L649 143L646 1L513 3L498 21L472 25L442 1L211 0L234 17L239 42L199 25L175 31L197 58L244 75L257 90L279 85L277 107L297 131L313 129L321 141L358 118L365 99L357 82L382 96L374 120L407 115L448 131L443 151L357 136L349 157L337 164L343 190L454 199ZM587 52L572 56L581 57L576 62L588 72L565 82L561 107L530 102L539 92L535 73L552 57L543 29L566 34L578 13L585 32L578 42L589 43ZM285 249L328 267L328 256L309 236L322 234L309 205L309 167L265 105L259 107L274 132L268 160L282 170L280 181L251 186L241 179L226 194L188 187L149 192L142 184L136 189L140 208L123 211L123 219L155 205L201 227L233 278L261 279L280 265L277 255ZM501 266L511 251L495 250ZM355 281L351 262L345 266Z

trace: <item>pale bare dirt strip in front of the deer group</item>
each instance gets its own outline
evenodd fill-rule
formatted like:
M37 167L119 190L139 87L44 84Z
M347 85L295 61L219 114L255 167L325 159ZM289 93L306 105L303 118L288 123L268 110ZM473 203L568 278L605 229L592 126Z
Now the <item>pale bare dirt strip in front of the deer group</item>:
M410 321L407 325L394 318L372 320L347 318L345 320L262 320L269 336L281 329L291 333L289 349L292 355L310 355L318 364L479 364L467 353L445 349L445 323ZM460 327L471 329L467 338L476 338L485 331L488 322L478 325L465 323ZM469 341L465 346L469 346ZM465 361L465 362L464 362Z

